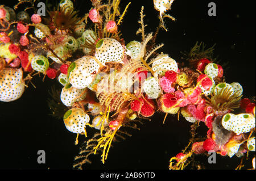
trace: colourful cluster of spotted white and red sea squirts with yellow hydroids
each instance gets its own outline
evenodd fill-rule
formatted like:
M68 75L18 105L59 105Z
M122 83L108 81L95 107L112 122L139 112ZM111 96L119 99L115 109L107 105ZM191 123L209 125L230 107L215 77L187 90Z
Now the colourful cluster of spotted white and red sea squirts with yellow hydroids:
M31 22L25 11L23 19L8 18L6 13L13 11L1 6L1 101L20 98L36 74L59 81L65 107L52 100L49 105L53 115L62 114L68 131L77 134L75 144L89 137L89 127L98 131L75 157L78 169L90 163L92 154L101 154L105 163L112 143L130 136L123 128L138 129L137 123L156 112L166 115L163 123L168 114L182 115L194 127L203 123L209 129L200 139L192 130L189 145L171 158L170 169L184 169L193 155L206 151L229 157L255 151L255 100L241 100L240 83L225 82L213 48L196 44L184 64L158 53L163 44L156 45L156 37L161 28L167 30L163 18L175 20L166 14L173 1L152 1L160 12L154 33L144 30L142 7L137 32L142 39L130 43L119 31L130 3L122 13L119 3L92 1L88 14L78 18L73 2L65 0L46 18L31 15Z

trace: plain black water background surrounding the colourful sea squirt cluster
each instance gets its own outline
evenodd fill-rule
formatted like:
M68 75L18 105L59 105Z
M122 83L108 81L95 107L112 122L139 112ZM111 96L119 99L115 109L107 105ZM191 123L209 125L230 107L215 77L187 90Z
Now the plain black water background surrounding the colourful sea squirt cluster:
M121 12L128 2L129 10L120 26L122 37L128 43L141 40L138 30L139 11L144 6L146 32L155 31L158 26L158 11L153 0L123 0ZM215 2L217 16L208 16L208 3ZM2 1L7 6L16 1ZM88 12L90 1L76 1L80 12ZM184 1L177 0L168 11L177 21L166 19L168 32L160 32L157 42L164 43L162 52L168 53L180 62L180 51L190 50L196 41L204 41L209 47L216 43L214 54L222 62L229 62L225 71L226 82L240 82L244 96L255 95L255 1ZM49 116L46 99L51 85L58 85L48 78L33 79L36 89L30 86L22 98L10 103L0 103L0 169L72 169L73 158L79 153L74 144L76 134L69 132L63 120ZM141 131L134 131L131 138L113 144L109 157L103 165L100 156L92 156L93 163L87 169L168 169L169 160L179 153L190 137L191 123L184 119L156 113L151 122L145 120ZM201 125L200 133L207 129ZM93 129L88 129L89 134ZM46 151L46 164L39 165L37 151ZM207 157L197 157L205 169L234 169L240 159L217 157L217 163L210 165ZM247 168L251 163L247 162Z

